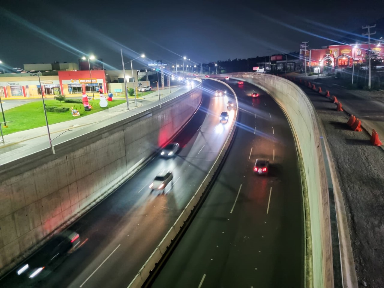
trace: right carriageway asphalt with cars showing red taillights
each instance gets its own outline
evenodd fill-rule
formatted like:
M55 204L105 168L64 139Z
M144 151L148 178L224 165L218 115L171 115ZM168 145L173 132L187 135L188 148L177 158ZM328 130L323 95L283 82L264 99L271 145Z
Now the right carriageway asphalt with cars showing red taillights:
M229 80L237 134L194 220L153 288L304 287L304 219L298 158L285 115L257 87ZM256 91L259 98L246 95ZM270 174L253 173L258 157Z

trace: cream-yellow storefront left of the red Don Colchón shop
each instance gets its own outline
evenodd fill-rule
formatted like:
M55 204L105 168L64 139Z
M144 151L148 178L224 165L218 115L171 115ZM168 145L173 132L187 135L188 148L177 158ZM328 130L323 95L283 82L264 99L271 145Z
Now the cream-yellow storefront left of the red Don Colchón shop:
M41 76L40 80L45 96L60 94L60 83L57 76ZM0 78L0 91L0 96L3 98L41 96L41 86L37 77L2 77Z

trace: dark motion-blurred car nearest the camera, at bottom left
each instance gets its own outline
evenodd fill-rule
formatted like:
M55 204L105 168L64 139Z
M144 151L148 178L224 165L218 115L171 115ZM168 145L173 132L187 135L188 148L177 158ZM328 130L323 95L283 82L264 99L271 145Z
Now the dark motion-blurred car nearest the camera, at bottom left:
M43 247L16 269L18 276L29 281L40 281L59 266L80 245L78 233L66 230L48 240Z

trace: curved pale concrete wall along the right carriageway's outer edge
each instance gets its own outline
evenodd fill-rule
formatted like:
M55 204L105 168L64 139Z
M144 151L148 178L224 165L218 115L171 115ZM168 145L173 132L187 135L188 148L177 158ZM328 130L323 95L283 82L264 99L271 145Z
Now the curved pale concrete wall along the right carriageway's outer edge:
M223 74L253 83L281 106L298 147L306 209L307 287L333 287L328 184L316 111L304 91L278 76L262 73ZM309 211L308 211L309 210Z

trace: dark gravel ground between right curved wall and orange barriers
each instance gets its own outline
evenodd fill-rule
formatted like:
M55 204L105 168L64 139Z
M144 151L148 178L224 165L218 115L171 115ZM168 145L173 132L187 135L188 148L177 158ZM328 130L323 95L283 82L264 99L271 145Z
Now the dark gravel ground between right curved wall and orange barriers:
M303 86L301 86L303 88ZM346 207L359 287L384 287L384 151L336 104L303 88L324 124ZM381 139L384 140L384 139ZM364 285L366 283L366 286Z

